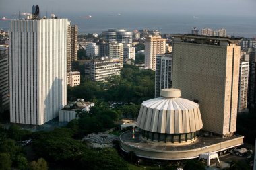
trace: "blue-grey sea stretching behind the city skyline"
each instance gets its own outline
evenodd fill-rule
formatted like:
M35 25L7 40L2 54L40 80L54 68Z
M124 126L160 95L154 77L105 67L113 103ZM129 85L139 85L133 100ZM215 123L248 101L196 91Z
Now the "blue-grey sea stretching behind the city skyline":
M236 37L256 37L255 16L233 15L168 15L150 13L61 13L61 18L68 18L71 24L77 24L79 34L98 33L109 28L133 30L159 30L166 34L189 34L193 27L226 28L227 34ZM7 30L8 21L0 21L0 28Z

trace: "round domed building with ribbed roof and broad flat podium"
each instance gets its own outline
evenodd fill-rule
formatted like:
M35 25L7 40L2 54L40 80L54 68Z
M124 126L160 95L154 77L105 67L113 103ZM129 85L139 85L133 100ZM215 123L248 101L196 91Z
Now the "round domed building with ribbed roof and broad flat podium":
M203 128L199 104L181 98L179 89L162 89L160 95L143 101L135 131L120 135L125 153L147 159L181 160L243 144L243 136L199 136Z

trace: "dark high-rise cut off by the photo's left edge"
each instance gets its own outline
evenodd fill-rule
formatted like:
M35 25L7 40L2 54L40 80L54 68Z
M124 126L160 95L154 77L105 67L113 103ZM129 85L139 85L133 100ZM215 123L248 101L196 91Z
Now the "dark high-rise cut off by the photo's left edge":
M0 114L9 110L8 47L0 46Z

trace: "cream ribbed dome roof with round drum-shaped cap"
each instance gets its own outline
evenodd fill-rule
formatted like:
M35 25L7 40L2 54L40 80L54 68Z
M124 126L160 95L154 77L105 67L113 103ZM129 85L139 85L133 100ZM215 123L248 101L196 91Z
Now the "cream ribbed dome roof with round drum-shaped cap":
M137 118L142 130L162 134L185 134L203 128L199 105L179 98L179 89L162 89L156 99L143 101Z

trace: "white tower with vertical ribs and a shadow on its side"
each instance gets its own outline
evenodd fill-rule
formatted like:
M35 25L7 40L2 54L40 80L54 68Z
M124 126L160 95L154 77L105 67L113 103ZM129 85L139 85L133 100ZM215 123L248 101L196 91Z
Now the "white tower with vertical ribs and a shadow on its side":
M67 19L9 22L11 122L41 125L67 104Z

